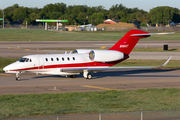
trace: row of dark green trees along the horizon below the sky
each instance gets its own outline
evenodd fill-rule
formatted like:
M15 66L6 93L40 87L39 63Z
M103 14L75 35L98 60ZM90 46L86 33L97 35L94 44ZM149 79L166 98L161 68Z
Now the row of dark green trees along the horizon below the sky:
M36 19L65 19L66 25L97 25L104 19L120 19L121 22L163 24L180 22L180 10L178 8L160 6L146 12L138 8L127 8L122 4L113 5L109 10L103 6L88 7L87 5L70 5L65 3L47 4L43 8L28 8L14 4L0 10L0 18L3 13L5 21L15 22L25 20L28 24L36 25ZM2 14L1 14L2 13ZM2 24L2 21L0 21Z

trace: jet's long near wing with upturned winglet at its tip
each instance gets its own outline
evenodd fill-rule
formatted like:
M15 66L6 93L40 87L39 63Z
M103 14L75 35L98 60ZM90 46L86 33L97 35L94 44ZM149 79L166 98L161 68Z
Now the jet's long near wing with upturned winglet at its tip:
M89 72L98 72L98 71L105 71L105 70L122 70L122 69L153 69L153 68L160 68L167 65L167 63L170 61L172 56L170 56L162 65L158 67L78 67L78 68L62 68L60 69L61 72L78 72L81 73L84 70L87 70Z

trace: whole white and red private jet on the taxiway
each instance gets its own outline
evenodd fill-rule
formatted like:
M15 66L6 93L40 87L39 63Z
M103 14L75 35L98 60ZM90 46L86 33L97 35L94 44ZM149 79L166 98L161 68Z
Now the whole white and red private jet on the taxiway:
M19 74L24 72L70 76L72 78L82 73L86 79L91 79L91 73L103 70L158 68L110 67L128 59L139 39L153 34L159 33L151 34L141 30L131 30L108 50L76 49L69 54L27 55L4 67L3 70L6 73L15 73L16 80L20 80ZM171 56L159 67L165 66L170 59Z

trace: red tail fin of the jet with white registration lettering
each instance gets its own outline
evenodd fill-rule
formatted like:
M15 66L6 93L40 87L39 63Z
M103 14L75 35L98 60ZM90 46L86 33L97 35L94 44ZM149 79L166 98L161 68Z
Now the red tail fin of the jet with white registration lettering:
M131 30L126 33L112 48L109 50L116 50L125 54L130 54L139 39L151 36L148 32L141 30Z

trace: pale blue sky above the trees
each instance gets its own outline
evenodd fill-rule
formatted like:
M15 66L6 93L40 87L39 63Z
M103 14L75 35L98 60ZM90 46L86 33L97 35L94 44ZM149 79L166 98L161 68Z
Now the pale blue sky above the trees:
M180 9L180 0L0 0L0 9L19 4L24 7L43 8L47 4L65 3L69 5L87 5L88 7L102 5L109 10L112 5L123 4L127 8L139 8L149 12L158 6L170 6Z

